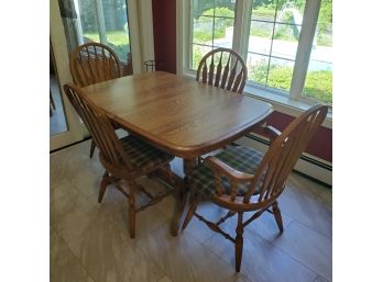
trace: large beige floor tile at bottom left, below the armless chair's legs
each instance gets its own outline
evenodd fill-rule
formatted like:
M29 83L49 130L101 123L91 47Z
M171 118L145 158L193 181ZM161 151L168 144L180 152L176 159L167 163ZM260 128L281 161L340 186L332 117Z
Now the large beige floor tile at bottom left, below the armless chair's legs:
M69 242L95 282L153 281L165 275L116 225L103 223Z

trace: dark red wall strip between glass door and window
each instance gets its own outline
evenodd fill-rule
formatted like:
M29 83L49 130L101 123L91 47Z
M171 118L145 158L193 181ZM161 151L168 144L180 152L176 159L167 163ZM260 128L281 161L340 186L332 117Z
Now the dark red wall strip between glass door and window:
M176 0L152 0L156 69L176 74Z

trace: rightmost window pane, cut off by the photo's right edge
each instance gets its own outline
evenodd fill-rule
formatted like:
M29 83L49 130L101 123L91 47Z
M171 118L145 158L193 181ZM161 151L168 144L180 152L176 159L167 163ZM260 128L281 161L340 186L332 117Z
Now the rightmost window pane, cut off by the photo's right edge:
M332 104L332 1L322 0L304 97Z

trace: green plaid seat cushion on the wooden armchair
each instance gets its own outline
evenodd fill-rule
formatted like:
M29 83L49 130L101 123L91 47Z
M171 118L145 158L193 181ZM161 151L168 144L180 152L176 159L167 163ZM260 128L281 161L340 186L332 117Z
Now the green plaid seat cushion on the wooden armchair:
M263 159L263 154L253 148L237 146L225 149L215 157L238 171L253 174L256 167ZM198 166L192 172L190 183L192 189L199 193L203 198L210 198L216 191L214 170L205 163ZM227 177L222 177L221 183L225 192L230 194L229 179ZM249 184L242 183L239 185L237 194L243 196L248 189ZM260 185L258 185L258 189L255 189L255 194L259 193L259 190Z

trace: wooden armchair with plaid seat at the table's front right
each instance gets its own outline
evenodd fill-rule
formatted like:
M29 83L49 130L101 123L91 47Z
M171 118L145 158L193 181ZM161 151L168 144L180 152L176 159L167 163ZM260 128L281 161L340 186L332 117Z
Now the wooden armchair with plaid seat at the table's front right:
M280 232L283 232L277 199L284 191L287 177L302 151L325 120L327 111L326 105L315 105L294 120L283 133L271 126L265 127L273 137L264 155L250 147L237 146L208 157L203 165L197 166L189 178L194 199L182 228L185 229L195 215L211 230L234 242L236 270L239 272L242 234L247 225L267 211L274 215ZM198 203L204 199L229 210L228 213L216 223L207 221L196 212ZM244 212L253 214L243 222ZM237 237L233 238L219 225L236 214Z

